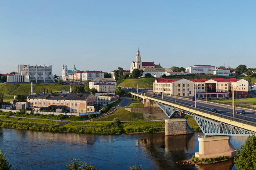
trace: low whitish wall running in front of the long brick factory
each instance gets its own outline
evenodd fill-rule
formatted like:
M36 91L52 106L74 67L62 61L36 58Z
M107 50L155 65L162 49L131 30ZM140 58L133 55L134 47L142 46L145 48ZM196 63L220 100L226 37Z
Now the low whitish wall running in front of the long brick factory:
M10 109L1 109L2 112L18 112L18 110L10 110ZM31 110L27 110L26 113L30 114ZM53 114L53 115L76 115L76 116L85 116L85 115L89 115L89 114L100 114L101 111L99 112L88 112L88 113L64 113L64 112L35 112L35 113L39 113L39 114L43 114L43 115L49 115L49 114Z

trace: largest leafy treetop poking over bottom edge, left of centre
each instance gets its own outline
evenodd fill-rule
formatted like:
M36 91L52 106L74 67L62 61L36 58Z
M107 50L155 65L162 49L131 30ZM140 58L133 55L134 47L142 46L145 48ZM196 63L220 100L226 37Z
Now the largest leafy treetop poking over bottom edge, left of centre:
M85 161L84 162L79 161L80 159L78 159L78 161L77 161L76 159L73 159L72 156L71 156L70 160L71 160L71 164L66 165L67 166L66 169L68 169L68 170L96 170L94 168L94 166L91 165L92 162L90 162L90 164L87 165L87 163ZM80 163L83 163L83 164L80 164Z

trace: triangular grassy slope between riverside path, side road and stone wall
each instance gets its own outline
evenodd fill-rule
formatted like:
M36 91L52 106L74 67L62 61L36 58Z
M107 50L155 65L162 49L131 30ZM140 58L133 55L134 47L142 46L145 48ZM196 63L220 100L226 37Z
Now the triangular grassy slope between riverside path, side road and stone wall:
M113 121L113 119L116 117L118 117L120 121L135 121L144 119L142 113L129 112L124 108L118 108L115 112L111 113L110 115L106 115L99 119L94 119L93 121Z

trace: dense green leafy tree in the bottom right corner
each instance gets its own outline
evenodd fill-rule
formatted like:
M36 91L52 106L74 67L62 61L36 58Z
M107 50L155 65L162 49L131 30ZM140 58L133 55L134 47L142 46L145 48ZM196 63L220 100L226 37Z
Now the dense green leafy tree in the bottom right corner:
M236 148L236 169L256 169L256 136L249 136L240 150Z

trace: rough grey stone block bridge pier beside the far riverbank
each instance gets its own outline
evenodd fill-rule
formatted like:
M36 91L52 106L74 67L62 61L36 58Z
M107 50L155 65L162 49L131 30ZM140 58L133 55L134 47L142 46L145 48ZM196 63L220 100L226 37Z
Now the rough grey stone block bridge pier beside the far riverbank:
M164 119L165 135L184 135L194 131L188 125L188 119Z

